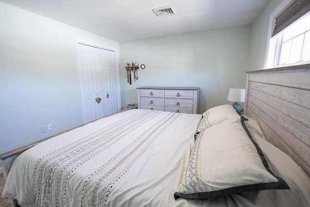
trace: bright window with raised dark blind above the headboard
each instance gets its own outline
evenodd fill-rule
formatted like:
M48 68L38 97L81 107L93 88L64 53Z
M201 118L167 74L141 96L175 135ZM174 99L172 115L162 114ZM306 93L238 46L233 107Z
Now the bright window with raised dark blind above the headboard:
M303 2L303 11L296 12ZM277 16L271 16L273 31L270 32L272 37L265 68L310 63L309 10L308 0L292 0Z

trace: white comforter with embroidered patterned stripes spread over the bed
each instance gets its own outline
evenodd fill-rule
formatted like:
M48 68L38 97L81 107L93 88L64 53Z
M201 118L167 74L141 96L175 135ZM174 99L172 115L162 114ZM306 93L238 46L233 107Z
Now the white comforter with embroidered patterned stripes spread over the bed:
M130 110L78 127L18 156L2 195L51 207L202 203L173 197L200 120ZM224 198L211 203L226 206Z

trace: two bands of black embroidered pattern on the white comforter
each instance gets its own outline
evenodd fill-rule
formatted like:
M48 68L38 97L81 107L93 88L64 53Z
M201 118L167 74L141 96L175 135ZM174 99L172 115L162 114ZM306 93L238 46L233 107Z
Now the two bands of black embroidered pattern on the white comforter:
M158 118L158 116L160 118ZM149 149L163 130L179 116L179 113L141 111L134 116L118 120L108 126L62 146L39 159L33 172L35 201L40 206L65 206L68 180L78 168L102 155L113 145L121 143L133 128L143 128L135 139L119 148L108 161L89 171L80 191L81 206L104 207L110 189L130 170L132 165ZM88 169L84 169L86 171Z

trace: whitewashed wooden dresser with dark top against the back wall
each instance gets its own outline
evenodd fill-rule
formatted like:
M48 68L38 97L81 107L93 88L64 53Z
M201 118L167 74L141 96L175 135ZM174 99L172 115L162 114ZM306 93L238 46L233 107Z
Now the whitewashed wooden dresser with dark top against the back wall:
M139 87L138 109L199 113L197 87Z

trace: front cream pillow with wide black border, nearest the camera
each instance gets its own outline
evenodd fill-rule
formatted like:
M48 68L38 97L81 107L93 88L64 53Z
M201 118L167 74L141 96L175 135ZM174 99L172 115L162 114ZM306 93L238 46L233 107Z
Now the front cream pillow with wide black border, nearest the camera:
M246 191L289 189L268 167L244 117L203 130L194 143L178 197L209 199Z

